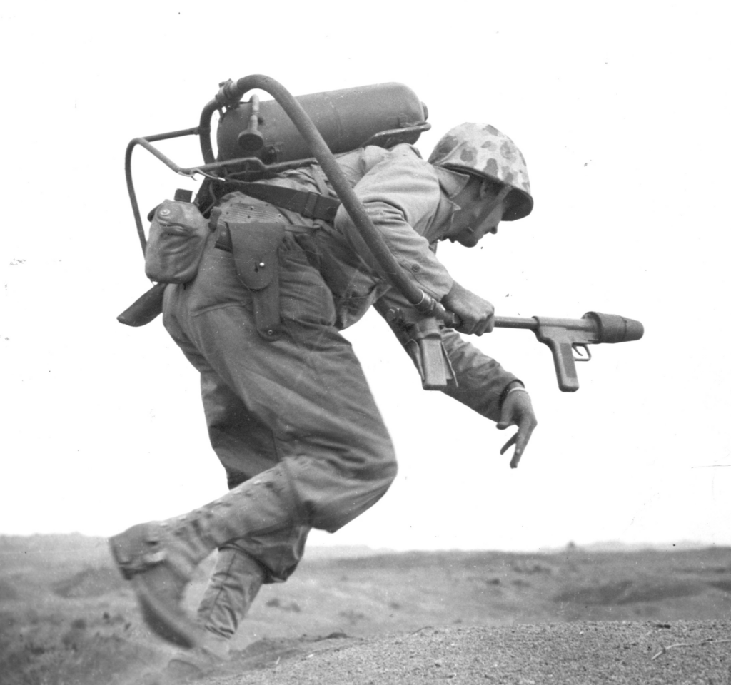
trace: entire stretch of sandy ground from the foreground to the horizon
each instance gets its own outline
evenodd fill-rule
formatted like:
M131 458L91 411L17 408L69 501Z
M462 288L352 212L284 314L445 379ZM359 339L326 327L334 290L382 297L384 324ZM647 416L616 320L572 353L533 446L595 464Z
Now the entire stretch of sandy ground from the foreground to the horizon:
M193 682L731 685L731 548L311 550L232 649ZM0 685L148 685L173 654L106 540L0 537Z

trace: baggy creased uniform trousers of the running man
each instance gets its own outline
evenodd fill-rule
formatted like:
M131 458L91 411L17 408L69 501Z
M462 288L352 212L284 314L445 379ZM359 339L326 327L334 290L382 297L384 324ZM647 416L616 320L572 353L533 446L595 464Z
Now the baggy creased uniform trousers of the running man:
M303 241L287 231L279 248L283 334L266 342L234 257L214 246L216 237L208 238L195 280L167 287L163 321L200 372L208 435L229 488L268 475L284 481L276 508L288 523L240 530L230 540L260 562L265 582L283 581L311 528L334 532L385 494L395 455ZM256 516L253 500L251 507Z

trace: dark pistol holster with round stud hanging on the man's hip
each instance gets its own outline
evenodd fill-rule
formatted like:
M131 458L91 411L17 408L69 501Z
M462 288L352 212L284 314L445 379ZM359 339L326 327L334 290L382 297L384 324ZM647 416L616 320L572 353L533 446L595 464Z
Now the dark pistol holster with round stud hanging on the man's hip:
M287 224L276 207L251 199L230 199L211 212L219 231L216 248L233 254L241 283L251 293L254 324L268 342L281 337L279 245Z

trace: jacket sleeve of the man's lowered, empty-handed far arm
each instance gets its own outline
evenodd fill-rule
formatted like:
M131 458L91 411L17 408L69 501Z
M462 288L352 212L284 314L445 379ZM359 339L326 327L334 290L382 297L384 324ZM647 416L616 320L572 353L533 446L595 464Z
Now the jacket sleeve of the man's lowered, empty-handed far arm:
M414 365L418 367L413 356L413 345L408 344L409 333L387 318L387 311L391 308L399 307L401 310L406 310L409 307L406 299L390 290L374 306L386 319L401 345L412 357ZM499 421L502 394L509 383L520 379L504 370L497 361L482 353L474 345L463 340L454 330L443 328L441 334L442 349L450 361L457 381L450 383L443 391L444 394L462 402L491 421Z

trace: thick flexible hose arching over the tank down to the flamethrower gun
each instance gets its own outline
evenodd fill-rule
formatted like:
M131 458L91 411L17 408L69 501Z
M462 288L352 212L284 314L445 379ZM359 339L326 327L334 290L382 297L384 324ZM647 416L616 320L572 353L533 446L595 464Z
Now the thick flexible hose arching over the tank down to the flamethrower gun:
M391 283L392 286L397 288L401 293L409 300L420 313L426 315L438 315L439 310L443 308L433 299L431 296L426 294L413 281L406 275L404 269L398 264L393 254L391 254L385 240L383 240L381 234L376 231L371 218L366 213L363 203L360 202L357 195L350 187L350 184L346 180L345 175L338 167L338 163L330 152L330 148L327 147L325 140L320 135L319 131L315 127L312 120L307 115L307 112L303 109L302 105L284 88L281 83L278 83L273 78L264 76L262 74L252 74L251 76L245 76L240 78L235 83L228 81L221 85L221 90L216 95L216 98L211 100L205 105L200 116L200 129L210 131L211 117L213 112L218 110L224 105L232 105L240 101L240 99L253 88L258 88L262 91L269 93L278 102L284 112L287 113L292 123L295 124L300 135L305 139L310 147L310 151L313 156L319 162L320 167L325 172L325 175L333 184L338 197L340 198L343 206L347 213L352 219L353 223L363 238L363 241L371 250L371 253L376 259L376 262L381 267L384 277ZM211 137L208 135L200 136L200 147L203 154L203 159L206 163L210 164L213 161L213 147L211 145Z

